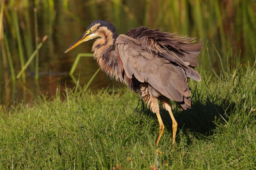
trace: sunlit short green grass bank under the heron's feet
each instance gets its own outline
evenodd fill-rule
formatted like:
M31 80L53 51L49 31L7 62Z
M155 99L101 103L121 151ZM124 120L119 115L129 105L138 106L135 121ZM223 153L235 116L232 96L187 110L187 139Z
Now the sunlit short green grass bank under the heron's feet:
M173 113L155 146L156 115L127 89L71 92L65 101L1 108L0 169L255 169L256 70L190 81L193 108Z

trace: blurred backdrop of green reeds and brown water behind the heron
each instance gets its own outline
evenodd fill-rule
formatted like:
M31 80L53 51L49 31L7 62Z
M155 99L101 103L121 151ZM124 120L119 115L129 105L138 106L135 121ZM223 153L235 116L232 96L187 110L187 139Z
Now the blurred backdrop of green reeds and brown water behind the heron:
M119 34L145 25L203 39L200 73L213 68L220 74L237 58L242 63L255 60L253 0L2 0L0 104L29 103L40 94L56 96L66 87L88 83L98 69L92 57L81 58L73 77L68 72L78 53L91 52L93 41L63 52L98 19L112 22ZM100 71L90 89L102 87L123 85Z

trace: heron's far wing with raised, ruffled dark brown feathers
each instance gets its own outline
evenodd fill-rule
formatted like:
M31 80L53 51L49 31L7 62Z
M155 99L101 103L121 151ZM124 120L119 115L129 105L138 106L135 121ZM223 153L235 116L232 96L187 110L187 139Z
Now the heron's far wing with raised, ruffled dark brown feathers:
M127 36L140 41L150 52L170 60L173 64L182 67L188 78L200 81L200 75L193 69L198 66L197 55L202 48L203 41L193 43L194 38L177 34L161 32L159 29L138 27L127 32Z

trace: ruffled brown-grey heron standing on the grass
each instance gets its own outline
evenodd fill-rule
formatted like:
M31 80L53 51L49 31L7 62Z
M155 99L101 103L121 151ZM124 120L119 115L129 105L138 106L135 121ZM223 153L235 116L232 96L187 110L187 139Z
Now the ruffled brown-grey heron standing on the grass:
M170 100L175 101L180 109L191 108L188 78L201 80L195 67L199 65L197 56L203 41L195 43L195 38L145 26L118 35L111 22L95 20L65 53L94 38L97 39L92 52L100 68L140 94L142 101L156 113L159 122L156 146L164 132L159 102L172 119L172 146L175 145L178 124Z

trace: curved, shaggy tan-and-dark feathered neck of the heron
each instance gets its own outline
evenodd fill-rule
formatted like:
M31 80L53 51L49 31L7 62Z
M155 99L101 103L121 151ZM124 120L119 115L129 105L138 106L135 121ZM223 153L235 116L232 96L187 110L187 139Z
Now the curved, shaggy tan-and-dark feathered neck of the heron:
M113 34L108 29L99 31L100 38L93 43L92 51L94 58L99 63L100 68L109 76L118 77L118 60L115 50L115 40Z

